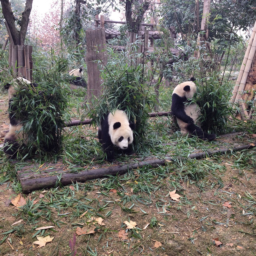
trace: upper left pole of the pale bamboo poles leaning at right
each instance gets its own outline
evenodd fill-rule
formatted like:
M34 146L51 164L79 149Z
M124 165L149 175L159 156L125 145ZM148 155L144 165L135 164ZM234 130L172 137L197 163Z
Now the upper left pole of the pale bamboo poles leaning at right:
M245 66L246 66L246 63L247 63L247 60L248 60L249 53L251 51L251 46L252 46L252 43L254 41L255 34L256 34L256 21L255 21L255 24L254 24L254 27L253 27L253 30L252 30L252 34L251 34L251 37L250 37L245 55L244 55L244 59L243 59L243 62L242 62L242 65L241 65L241 68L240 68L240 71L239 71L239 75L238 75L237 80L236 80L236 84L235 84L233 92L232 92L232 97L230 99L231 102L235 102L237 92L239 91L239 85L240 85L241 79L243 77L244 69L245 69Z

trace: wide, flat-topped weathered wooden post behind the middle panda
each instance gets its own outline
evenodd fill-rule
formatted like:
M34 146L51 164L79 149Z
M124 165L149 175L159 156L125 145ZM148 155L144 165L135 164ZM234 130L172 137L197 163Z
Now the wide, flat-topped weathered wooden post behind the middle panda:
M85 101L91 104L92 97L98 98L102 90L102 79L100 77L98 61L100 61L101 65L107 64L105 29L103 27L87 29L86 44L88 85Z

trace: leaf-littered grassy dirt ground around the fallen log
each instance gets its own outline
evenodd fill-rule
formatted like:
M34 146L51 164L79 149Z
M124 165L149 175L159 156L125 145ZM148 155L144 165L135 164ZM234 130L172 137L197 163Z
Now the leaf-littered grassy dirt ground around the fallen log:
M8 125L6 100L6 94L0 96L1 129ZM24 195L15 177L21 164L1 154L0 255L256 255L255 149L201 160L178 158L253 143L254 138L239 133L203 142L180 136L173 128L160 132L168 123L166 118L153 122L159 130L155 136L168 145L155 145L156 151L145 155L169 154L175 159L154 169L147 166L65 187L57 183ZM95 130L72 129L67 134L78 132L80 140L87 138L86 149L94 148ZM88 165L103 163L94 154ZM140 156L117 157L115 163ZM61 161L83 162L83 157L81 152L63 154ZM178 201L170 197L174 190L181 196ZM11 203L18 194L25 198L20 207ZM127 228L128 222L134 228ZM34 244L38 235L53 239L38 248Z

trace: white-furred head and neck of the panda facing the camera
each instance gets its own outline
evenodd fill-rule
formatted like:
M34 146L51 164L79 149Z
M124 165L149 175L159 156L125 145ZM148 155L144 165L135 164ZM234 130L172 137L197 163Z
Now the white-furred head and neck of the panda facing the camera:
M122 110L116 110L108 115L109 135L112 143L120 149L127 149L133 142L133 132L127 115Z

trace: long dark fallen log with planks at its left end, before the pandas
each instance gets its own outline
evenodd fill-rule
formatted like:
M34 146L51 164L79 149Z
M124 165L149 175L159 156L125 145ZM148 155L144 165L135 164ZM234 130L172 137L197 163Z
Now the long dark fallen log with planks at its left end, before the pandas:
M223 148L219 150L209 150L207 152L189 154L188 158L192 159L202 159L204 157L212 156L217 153L228 153L231 151L239 151L243 149L250 149L255 147L254 144L240 145L235 147ZM39 190L43 188L51 188L54 187L56 182L58 181L58 176L60 178L60 183L62 185L69 185L72 181L77 182L85 182L88 180L103 178L108 175L117 175L124 174L128 170L136 169L142 166L149 166L149 168L157 168L158 166L165 165L166 162L174 161L170 157L165 157L163 159L155 159L152 157L144 158L144 159L135 159L136 162L131 164L119 164L110 167L92 167L95 169L85 170L84 167L81 166L73 166L69 168L67 165L63 164L46 164L47 166L39 166L34 164L30 166L25 166L21 170L17 172L18 180L21 183L23 193L30 193L34 190ZM77 172L74 172L74 169ZM34 172L33 172L34 170ZM73 171L73 172L72 172Z

